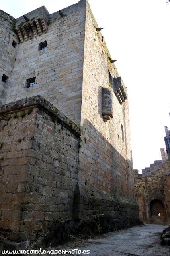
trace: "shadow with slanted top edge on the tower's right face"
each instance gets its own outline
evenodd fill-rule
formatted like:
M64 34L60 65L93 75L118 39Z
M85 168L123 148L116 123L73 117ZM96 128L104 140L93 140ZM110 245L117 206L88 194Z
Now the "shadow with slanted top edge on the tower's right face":
M109 123L106 125L110 126ZM112 129L110 132L114 132ZM111 135L111 144L105 131L103 136L87 119L84 119L82 130L85 131L79 158L79 180L82 184L113 193L115 196L134 198L132 158L125 158L125 142L117 137L116 132ZM113 147L115 143L124 156Z

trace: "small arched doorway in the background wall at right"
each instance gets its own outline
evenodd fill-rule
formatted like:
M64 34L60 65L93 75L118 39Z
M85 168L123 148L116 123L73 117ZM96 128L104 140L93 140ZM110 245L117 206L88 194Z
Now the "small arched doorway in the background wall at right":
M150 202L151 217L165 217L164 204L159 199L154 199Z

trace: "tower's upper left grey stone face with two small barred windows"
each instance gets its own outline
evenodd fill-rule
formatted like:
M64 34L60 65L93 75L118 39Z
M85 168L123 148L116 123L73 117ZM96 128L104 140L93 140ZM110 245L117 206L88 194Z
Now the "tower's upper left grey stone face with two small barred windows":
M25 39L21 38L23 42L18 47L5 103L40 94L78 124L82 94L85 2L80 1L63 9L63 17L60 17L59 12L48 16L45 6L39 9L25 16L35 21L37 16L42 17L44 24L50 24L45 33L40 32L36 37L32 36L31 40L27 40L26 35ZM23 22L23 17L18 18L16 28L24 26L26 22ZM47 48L38 50L39 44L45 40ZM25 88L26 80L34 77L35 85Z

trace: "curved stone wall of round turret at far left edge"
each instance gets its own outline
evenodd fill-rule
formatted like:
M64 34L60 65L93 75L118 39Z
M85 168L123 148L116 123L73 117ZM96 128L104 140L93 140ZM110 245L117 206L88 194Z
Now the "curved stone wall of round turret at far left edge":
M14 33L15 19L0 10L0 104L4 104L6 92L10 82L10 76L14 66L18 49L18 37ZM13 40L17 43L12 46ZM2 81L3 74L8 77L6 82Z

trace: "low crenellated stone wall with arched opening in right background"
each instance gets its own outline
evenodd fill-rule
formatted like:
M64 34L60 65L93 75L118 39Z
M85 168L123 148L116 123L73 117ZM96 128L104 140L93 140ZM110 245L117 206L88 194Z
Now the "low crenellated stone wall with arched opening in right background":
M135 170L135 200L139 206L139 218L145 223L169 224L170 222L170 176L166 172L170 169L170 162L163 154L162 160L154 161L149 168L138 174ZM160 216L151 216L150 203L160 200L164 204L165 216L160 208ZM152 203L151 203L152 204Z

